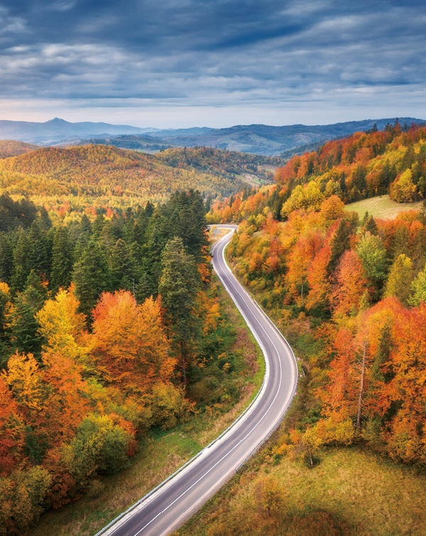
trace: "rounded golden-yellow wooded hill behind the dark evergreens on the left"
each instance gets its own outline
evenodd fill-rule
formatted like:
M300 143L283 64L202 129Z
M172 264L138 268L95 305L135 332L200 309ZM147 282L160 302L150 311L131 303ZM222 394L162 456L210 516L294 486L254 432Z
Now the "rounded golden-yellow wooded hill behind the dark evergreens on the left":
M229 195L241 187L191 167L170 166L154 155L107 145L43 148L0 162L0 189L29 196L51 218L67 223L76 213L111 211L146 201L163 202L173 191L197 188L204 196Z

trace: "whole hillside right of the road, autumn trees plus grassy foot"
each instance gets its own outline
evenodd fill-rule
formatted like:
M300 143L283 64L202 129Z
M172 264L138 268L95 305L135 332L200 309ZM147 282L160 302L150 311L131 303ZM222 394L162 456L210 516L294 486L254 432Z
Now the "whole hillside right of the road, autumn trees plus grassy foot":
M231 264L301 374L274 441L182 534L422 534L426 205L381 220L344 201L424 199L425 140L399 125L355 134L214 204L210 222L240 222Z

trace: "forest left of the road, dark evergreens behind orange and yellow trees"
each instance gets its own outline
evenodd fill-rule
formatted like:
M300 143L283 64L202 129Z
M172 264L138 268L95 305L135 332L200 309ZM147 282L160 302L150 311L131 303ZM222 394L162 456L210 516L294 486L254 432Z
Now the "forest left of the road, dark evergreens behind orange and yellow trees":
M198 192L68 226L4 195L0 220L0 526L23 533L185 420L203 379L218 407L240 393Z

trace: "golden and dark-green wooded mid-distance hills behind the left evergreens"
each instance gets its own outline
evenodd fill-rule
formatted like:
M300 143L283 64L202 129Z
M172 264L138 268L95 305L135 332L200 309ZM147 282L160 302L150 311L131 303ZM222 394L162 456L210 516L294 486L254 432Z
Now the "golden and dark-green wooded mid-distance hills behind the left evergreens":
M40 148L0 140L0 191L28 197L54 223L67 224L83 213L111 216L147 201L165 203L176 190L197 189L204 199L229 196L251 177L271 182L269 168L280 164L277 157L210 147L148 155L110 145Z

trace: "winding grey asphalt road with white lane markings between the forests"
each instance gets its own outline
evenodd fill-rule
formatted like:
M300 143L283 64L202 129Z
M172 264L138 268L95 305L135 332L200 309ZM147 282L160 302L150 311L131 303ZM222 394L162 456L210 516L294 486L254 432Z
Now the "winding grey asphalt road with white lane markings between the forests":
M224 250L236 226L226 227L230 232L212 247L212 264L263 351L266 374L261 390L248 410L217 440L96 536L161 536L176 530L276 428L293 398L297 385L295 357L226 264Z

